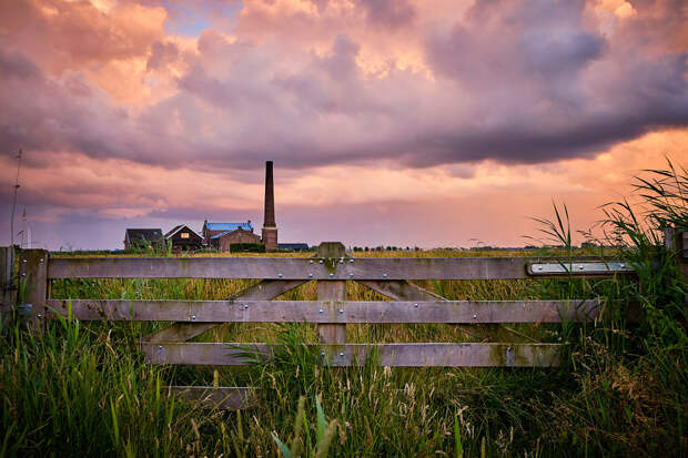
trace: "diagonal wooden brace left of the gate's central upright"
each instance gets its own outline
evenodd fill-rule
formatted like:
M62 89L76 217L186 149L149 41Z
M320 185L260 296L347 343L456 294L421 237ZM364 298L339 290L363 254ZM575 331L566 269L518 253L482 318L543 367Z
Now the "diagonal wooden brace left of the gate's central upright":
M304 281L297 279L264 279L250 286L239 293L230 296L230 301L237 299L272 299L281 296L295 287L303 285ZM220 326L221 323L200 323L201 320L192 319L193 314L188 315L186 318L180 319L181 322L189 320L191 323L175 323L169 327L160 329L153 334L148 335L144 340L148 342L184 342L200 336L210 329ZM194 323L198 322L198 323ZM222 320L221 320L222 322Z

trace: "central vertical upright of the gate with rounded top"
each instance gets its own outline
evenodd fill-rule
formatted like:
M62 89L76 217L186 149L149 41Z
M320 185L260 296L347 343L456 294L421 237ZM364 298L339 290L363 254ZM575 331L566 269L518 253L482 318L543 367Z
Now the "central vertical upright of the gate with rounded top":
M346 256L346 248L341 242L323 242L317 247L317 257L327 265L327 268L336 269L338 261ZM318 279L318 301L346 301L346 281ZM323 344L345 344L346 325L317 325L317 335Z

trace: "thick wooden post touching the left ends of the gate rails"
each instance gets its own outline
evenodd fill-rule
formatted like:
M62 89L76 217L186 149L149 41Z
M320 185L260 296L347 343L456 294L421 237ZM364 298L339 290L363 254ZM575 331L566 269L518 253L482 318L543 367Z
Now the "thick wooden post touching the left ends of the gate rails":
M45 298L48 295L48 252L45 250L22 250L19 254L19 281L23 283L23 304L31 308L20 309L27 314L27 326L41 330L45 320Z

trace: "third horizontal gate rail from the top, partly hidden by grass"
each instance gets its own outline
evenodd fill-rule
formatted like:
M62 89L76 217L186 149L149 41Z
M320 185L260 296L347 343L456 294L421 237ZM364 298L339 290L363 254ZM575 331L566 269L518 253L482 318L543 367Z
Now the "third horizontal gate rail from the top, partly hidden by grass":
M239 348L237 346L242 346ZM382 366L399 367L547 367L559 363L557 344L341 344L306 345L320 352L323 364L353 366L375 354ZM266 344L143 344L150 364L244 366L246 348L270 358Z

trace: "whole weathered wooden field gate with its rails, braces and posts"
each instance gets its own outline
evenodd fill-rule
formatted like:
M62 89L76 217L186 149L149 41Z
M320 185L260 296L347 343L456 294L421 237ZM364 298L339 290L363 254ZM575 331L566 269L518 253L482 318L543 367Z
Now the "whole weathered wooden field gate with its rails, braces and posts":
M686 238L684 238L686 243ZM3 285L9 284L13 252L2 248ZM560 346L495 342L506 323L560 323L594 319L598 301L447 301L414 279L519 279L557 276L606 277L633 273L620 262L581 258L448 257L356 258L338 242L323 243L312 258L293 257L54 257L42 250L19 252L19 276L28 292L29 326L40 328L53 314L80 320L174 322L141 342L151 364L245 365L249 345L270 357L264 343L190 343L227 322L316 323L313 344L330 366L360 365L376 350L384 366L535 367L558 364ZM58 278L256 278L260 282L226 301L55 299L50 283ZM317 301L275 301L308 282L317 282ZM355 281L391 301L346 301L346 282ZM8 287L3 287L7 294ZM3 297L3 303L9 303ZM479 343L347 344L351 323L445 323L461 326ZM245 406L249 388L171 387L191 398L206 398L225 408Z

